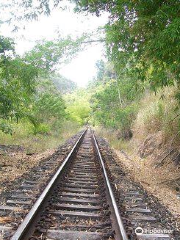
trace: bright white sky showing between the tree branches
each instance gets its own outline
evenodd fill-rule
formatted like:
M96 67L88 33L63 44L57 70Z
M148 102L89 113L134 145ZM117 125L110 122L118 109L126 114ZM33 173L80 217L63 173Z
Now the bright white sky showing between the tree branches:
M67 1L66 1L67 3ZM41 16L38 21L26 24L25 30L12 33L7 25L1 27L1 34L16 39L16 50L23 54L30 50L35 41L41 39L52 40L60 33L62 36L71 34L80 36L83 32L93 32L104 26L108 21L107 14L100 17L73 12L73 6L68 4L66 10L55 9L51 16ZM103 43L92 44L80 52L69 64L60 66L58 72L64 77L75 81L78 86L84 87L96 74L95 63L104 58Z

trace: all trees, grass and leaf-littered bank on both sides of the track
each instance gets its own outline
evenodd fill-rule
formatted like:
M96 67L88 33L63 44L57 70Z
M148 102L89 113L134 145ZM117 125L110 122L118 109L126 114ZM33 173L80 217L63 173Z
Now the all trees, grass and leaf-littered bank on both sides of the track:
M0 3L0 13L3 7L19 12L11 24L22 28L19 20L49 15L59 2ZM0 36L1 144L44 151L89 123L117 150L133 179L179 214L179 0L73 2L79 13L108 13L103 38L58 36L19 56L15 41ZM96 39L105 43L107 60L97 62L86 89L77 89L57 68Z

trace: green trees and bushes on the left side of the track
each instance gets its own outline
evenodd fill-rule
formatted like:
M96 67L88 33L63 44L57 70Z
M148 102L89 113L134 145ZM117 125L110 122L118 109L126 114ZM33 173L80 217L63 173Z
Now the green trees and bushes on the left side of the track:
M0 3L0 26L9 22L18 30L24 27L23 20L48 15L58 4L59 1L50 3L49 0ZM4 10L9 12L4 14ZM35 134L60 126L65 119L84 123L89 111L83 107L84 103L76 101L77 106L66 111L62 97L75 90L76 84L57 74L56 70L84 48L82 42L86 38L84 34L76 39L59 36L52 41L39 41L20 57L15 51L14 40L0 36L0 130L12 134L11 124L19 121L29 121Z

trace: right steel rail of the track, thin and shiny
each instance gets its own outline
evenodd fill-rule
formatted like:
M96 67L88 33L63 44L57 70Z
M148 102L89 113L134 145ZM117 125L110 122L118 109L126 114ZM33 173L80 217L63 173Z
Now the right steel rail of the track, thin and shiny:
M98 146L98 143L97 143L97 140L96 140L96 137L95 137L94 133L92 133L92 136L93 136L94 144L95 144L95 147L96 147L95 150L98 154L98 158L100 160L101 167L102 167L102 170L103 170L105 183L107 185L107 190L108 190L109 197L110 197L110 200L111 200L114 215L115 215L115 218L116 218L117 230L119 231L119 233L116 232L116 234L120 235L120 237L121 237L121 239L118 239L118 240L128 240L128 237L127 237L127 234L126 234L126 231L125 231L122 219L121 219L121 215L120 215L120 212L119 212L116 200L115 200L115 196L114 196L113 190L111 188L111 184L110 184L110 181L109 181L109 178L108 178L106 167L105 167L104 161L102 159L102 155L101 155L101 152L99 150L99 146Z

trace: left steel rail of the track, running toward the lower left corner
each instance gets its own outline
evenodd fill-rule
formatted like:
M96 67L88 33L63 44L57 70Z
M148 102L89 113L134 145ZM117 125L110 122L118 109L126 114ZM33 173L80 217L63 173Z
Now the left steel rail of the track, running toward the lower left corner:
M33 205L33 207L31 208L31 210L29 211L29 213L26 215L26 217L24 218L23 222L20 224L20 226L18 227L18 229L16 230L16 232L14 233L14 235L11 237L11 240L22 240L25 239L27 240L27 238L25 238L25 233L26 231L28 231L28 228L31 227L31 224L34 220L34 218L36 217L36 215L38 214L38 211L40 209L40 207L42 207L42 205L44 204L49 192L51 191L51 189L53 188L56 180L58 179L59 175L62 173L62 171L65 169L67 163L69 162L69 160L71 159L72 155L75 153L75 150L77 149L80 141L82 140L83 136L85 135L87 130L85 130L81 136L78 138L78 140L76 141L74 147L71 149L70 153L68 154L68 156L65 158L64 162L61 164L61 166L58 168L57 172L55 173L55 175L52 177L52 179L50 180L50 182L48 183L47 187L44 189L44 191L42 192L42 194L40 195L40 197L37 199L37 201L35 202L35 204Z

